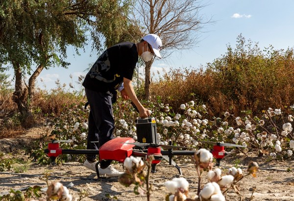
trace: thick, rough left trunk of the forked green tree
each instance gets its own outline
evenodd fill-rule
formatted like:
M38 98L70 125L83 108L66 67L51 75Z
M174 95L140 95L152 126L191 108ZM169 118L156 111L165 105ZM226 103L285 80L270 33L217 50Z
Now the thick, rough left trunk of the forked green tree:
M22 125L29 127L34 123L33 115L28 108L27 103L27 89L23 89L22 72L19 65L14 65L15 74L15 92L13 93L13 100L17 104L18 110L21 113Z

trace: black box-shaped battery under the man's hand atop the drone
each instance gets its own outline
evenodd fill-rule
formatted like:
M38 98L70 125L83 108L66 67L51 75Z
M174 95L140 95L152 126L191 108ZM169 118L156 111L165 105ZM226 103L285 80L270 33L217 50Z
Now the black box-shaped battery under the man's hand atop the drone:
M138 142L157 144L156 121L154 118L137 119L136 127Z

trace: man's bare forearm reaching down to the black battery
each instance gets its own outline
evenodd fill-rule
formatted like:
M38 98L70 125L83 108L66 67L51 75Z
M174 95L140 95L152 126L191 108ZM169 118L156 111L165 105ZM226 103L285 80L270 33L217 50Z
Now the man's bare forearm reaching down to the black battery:
M138 100L138 98L135 94L134 88L132 86L132 80L129 80L129 79L123 77L123 86L124 86L124 89L125 89L128 97L130 98L130 100L132 100L132 102L138 108L139 116L141 118L146 118L146 117L150 116L149 111L145 107L143 107L141 102Z

